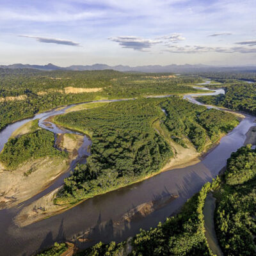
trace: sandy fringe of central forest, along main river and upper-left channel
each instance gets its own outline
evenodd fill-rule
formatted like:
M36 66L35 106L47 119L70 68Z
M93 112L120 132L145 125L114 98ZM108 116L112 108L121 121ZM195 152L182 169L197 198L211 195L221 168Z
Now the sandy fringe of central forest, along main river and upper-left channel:
M61 127L60 123L56 122L56 119L54 118L54 116L51 116L51 117L45 119L45 121L55 122L56 124L59 125L60 129L68 128L68 129L74 131L74 127L71 127L70 123L65 124L65 127ZM208 139L208 141L205 145L205 149L203 150L202 153L199 153L196 150L196 148L193 146L193 144L188 140L188 138L184 138L184 140L186 140L186 143L188 144L188 147L186 147L186 148L175 143L171 138L169 138L170 135L167 134L168 132L164 132L164 129L162 129L159 120L157 122L154 122L152 124L152 126L154 129L156 129L156 131L159 132L159 134L161 136L163 136L163 138L166 140L166 142L169 143L170 147L172 147L172 149L174 151L174 157L169 159L168 163L164 164L164 166L157 172L150 173L150 175L147 175L147 176L141 175L141 177L139 177L139 179L132 180L131 182L129 182L129 184L126 183L125 186L131 186L132 184L136 184L143 180L147 180L151 177L154 177L155 175L157 175L159 173L162 173L162 172L165 172L168 170L172 170L175 168L176 169L184 168L184 167L199 163L200 162L199 157L202 156L202 154L204 154L209 148L216 147L216 144L218 144L220 142L220 139L225 135L224 133L219 134L219 140L216 143L211 143L211 141ZM76 129L77 129L77 127L76 127ZM82 132L84 132L84 131L82 131ZM120 186L120 184L118 186L112 186L111 188L108 188L104 191L98 192L97 195L103 195L105 193L109 193L110 191L115 191L117 189L121 189L123 187L124 186ZM60 212L66 211L67 209L75 207L76 205L83 203L85 200L88 200L89 198L96 196L95 193L94 194L92 193L91 195L88 195L86 198L80 199L79 201L77 200L73 204L67 204L67 202L63 202L63 205L62 204L58 205L58 204L54 204L54 199L56 198L56 196L57 196L56 193L58 191L55 191L54 193L51 192L48 195L45 195L44 197L36 200L35 202L28 205L27 207L24 207L24 209L22 209L22 211L20 211L19 215L15 218L15 223L17 225L19 225L20 227L24 227L26 225L29 225L29 224L35 222L35 221L39 221L44 218L48 218L54 214L58 214ZM35 212L35 211L33 211L33 209L44 209L44 211L36 211ZM27 218L25 218L25 216Z

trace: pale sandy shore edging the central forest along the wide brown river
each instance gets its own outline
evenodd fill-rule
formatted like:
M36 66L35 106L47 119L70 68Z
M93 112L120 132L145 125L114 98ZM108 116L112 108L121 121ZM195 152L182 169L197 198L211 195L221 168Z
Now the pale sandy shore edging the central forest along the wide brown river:
M52 118L51 118L51 122L52 122ZM60 128L63 128L63 127L60 126ZM67 127L67 128L70 129L70 127ZM159 131L160 134L164 136L163 134L164 131L161 129L159 124L157 125L157 131ZM68 135L68 134L65 134L65 135ZM223 136L225 135L226 134L223 134L223 133L220 134L220 139L216 143L212 143L211 147L213 149L216 148L218 143L220 143L221 138L223 138ZM173 169L185 168L185 167L194 165L196 163L199 163L200 161L202 161L203 156L207 156L207 154L205 154L206 150L211 151L211 147L209 146L209 144L205 146L205 150L203 152L199 153L196 151L196 148L193 147L191 143L189 144L188 148L182 147L181 145L175 143L173 140L168 140L168 143L175 151L175 156L170 158L168 163L166 163L163 166L163 168L161 168L161 170L159 170L158 172L142 177L141 179L131 182L126 186L131 186L132 184L143 182L143 180L150 179L158 175L159 173L167 172ZM15 217L15 224L18 225L19 227L25 227L25 226L31 225L36 221L44 220L45 218L49 218L56 214L60 214L61 212L67 211L70 208L76 207L77 205L83 203L85 200L88 200L93 197L93 196L88 196L87 198L84 198L84 200L80 200L79 202L76 202L76 204L66 204L66 205L54 204L54 199L56 198L61 188L62 186L54 191L51 191L51 193L48 193L47 195L42 196L42 198L39 198L32 204L24 207L22 211L20 211L19 214ZM111 189L108 189L108 191L104 191L104 193L100 193L99 195L103 195L121 188L123 187L111 188Z

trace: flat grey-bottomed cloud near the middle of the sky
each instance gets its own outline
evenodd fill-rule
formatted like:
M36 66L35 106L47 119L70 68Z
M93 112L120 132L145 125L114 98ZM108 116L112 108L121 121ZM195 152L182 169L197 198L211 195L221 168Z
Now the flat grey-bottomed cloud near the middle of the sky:
M109 37L108 39L117 42L123 48L131 48L136 51L145 51L144 49L148 49L154 44L161 43L161 40L145 39L138 36L116 36Z

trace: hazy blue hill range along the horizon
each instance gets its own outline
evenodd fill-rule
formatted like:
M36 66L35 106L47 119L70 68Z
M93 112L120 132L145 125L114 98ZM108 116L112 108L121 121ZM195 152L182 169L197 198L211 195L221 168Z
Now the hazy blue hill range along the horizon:
M112 69L121 72L218 72L218 71L255 71L256 66L248 67L216 67L209 65L148 65L148 66L138 66L138 67L129 67L124 65L109 66L106 64L94 64L94 65L72 65L69 67L58 67L51 63L47 65L30 65L30 64L12 64L12 65L0 65L0 68L34 68L38 70L106 70Z

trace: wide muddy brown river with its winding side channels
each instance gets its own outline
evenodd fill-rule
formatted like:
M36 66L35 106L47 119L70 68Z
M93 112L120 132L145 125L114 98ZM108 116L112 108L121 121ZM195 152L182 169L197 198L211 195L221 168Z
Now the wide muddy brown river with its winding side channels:
M208 89L205 88L205 90ZM223 93L223 90L214 90L214 93L214 95L217 95ZM205 92L200 95L211 94ZM195 104L200 104L193 96L195 95L186 95L184 99L188 99ZM8 125L0 132L0 150L15 129L32 119L40 118L40 127L49 129L49 131L58 133L71 132L62 130L54 125L52 125L53 129L51 129L43 124L46 118L65 113L67 108L40 113L33 118ZM155 227L159 221L164 221L166 217L179 211L180 207L182 207L188 198L198 192L205 182L211 181L213 177L216 177L225 166L230 154L236 151L237 148L243 146L246 139L246 132L250 127L255 125L255 117L251 115L245 116L233 131L221 139L217 147L202 158L200 163L186 168L159 173L143 182L90 198L76 207L51 218L38 221L24 228L17 227L12 221L13 217L17 215L24 205L28 205L33 200L60 186L63 182L63 177L58 178L52 186L29 199L28 202L24 202L24 204L13 207L12 209L0 211L0 255L31 255L36 250L43 250L51 246L55 241L70 240L72 237L82 234L85 231L88 240L77 241L76 245L79 248L92 246L99 241L105 243L113 240L122 241L129 236L134 236L139 232L140 228L148 229ZM86 148L89 144L90 141L84 137L84 145L82 147ZM86 153L84 150L81 151L82 155ZM65 175L68 174L66 173ZM165 195L178 195L178 197L170 202L170 204L166 204L145 218L134 218L130 222L119 221L135 205L141 205Z

